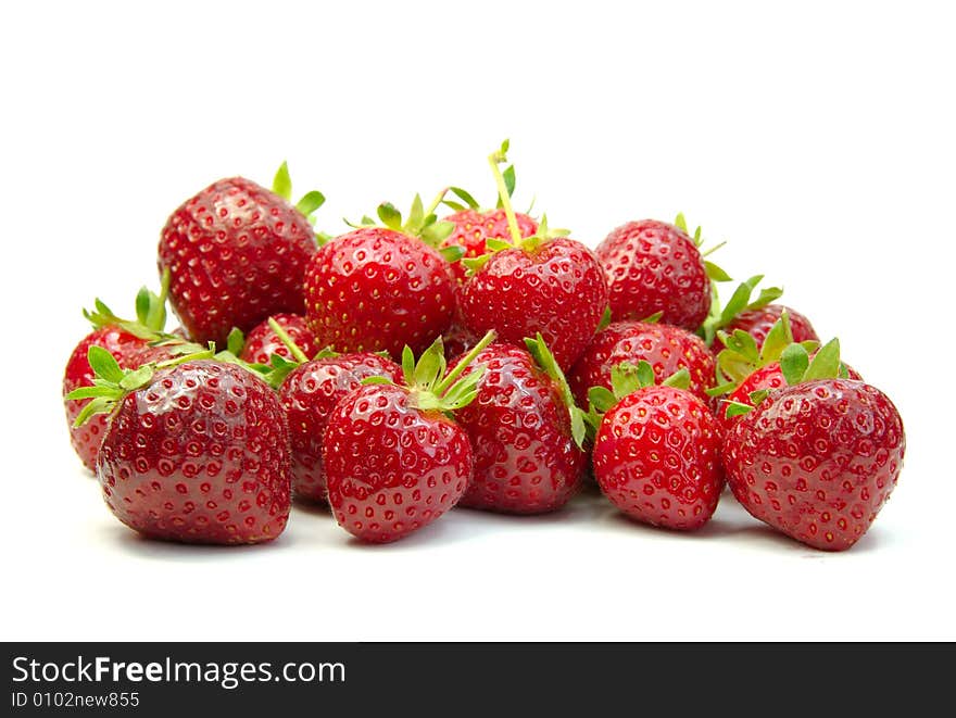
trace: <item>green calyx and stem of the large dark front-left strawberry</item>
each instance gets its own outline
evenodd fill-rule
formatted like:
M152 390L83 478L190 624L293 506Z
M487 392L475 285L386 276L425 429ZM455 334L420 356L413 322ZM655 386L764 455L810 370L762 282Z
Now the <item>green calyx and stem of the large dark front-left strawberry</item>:
M90 368L96 375L91 387L80 387L74 389L65 399L91 399L86 406L79 412L73 426L78 427L86 424L95 414L105 414L113 411L123 398L131 391L142 389L148 386L153 378L156 369L163 369L169 366L176 366L184 362L193 360L213 358L215 349L212 343L207 350L184 354L166 362L159 364L143 364L136 369L123 369L108 350L93 344L87 352L87 361Z

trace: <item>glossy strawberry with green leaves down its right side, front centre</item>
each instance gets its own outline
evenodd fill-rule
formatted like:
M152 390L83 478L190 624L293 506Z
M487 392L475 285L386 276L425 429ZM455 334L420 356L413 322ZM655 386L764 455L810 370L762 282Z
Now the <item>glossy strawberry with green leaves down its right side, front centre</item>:
M491 344L462 374L485 367L476 400L455 412L475 456L461 506L540 514L562 507L581 488L583 417L540 336L527 343L530 353Z

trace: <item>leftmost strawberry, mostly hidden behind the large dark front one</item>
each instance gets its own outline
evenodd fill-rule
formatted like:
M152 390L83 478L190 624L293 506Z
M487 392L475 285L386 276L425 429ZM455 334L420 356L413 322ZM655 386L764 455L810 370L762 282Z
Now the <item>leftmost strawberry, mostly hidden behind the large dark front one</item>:
M84 311L84 316L95 329L80 340L66 362L66 370L63 375L63 406L66 411L73 450L83 461L84 466L91 471L96 470L97 452L106 432L108 417L98 414L83 426L75 426L76 417L90 400L70 400L66 395L75 389L93 386L96 374L87 358L90 347L105 349L116 357L123 368L136 368L143 363L143 353L149 350L150 342L159 341L163 336L163 327L166 324L167 287L168 277L164 277L159 295L146 287L139 290L136 298L135 322L121 319L100 300L96 301L95 311Z

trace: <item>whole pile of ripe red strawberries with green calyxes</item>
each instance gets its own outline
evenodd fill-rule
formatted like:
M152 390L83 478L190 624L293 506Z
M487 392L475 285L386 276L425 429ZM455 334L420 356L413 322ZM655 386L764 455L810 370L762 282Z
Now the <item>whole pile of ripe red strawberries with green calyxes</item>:
M337 237L313 227L319 192L290 202L285 164L272 191L223 179L178 207L160 293L134 319L97 300L63 381L113 514L254 543L295 495L387 542L453 506L557 511L593 479L654 526L702 527L729 484L797 541L858 541L903 462L890 399L779 289L754 297L762 277L719 302L730 278L682 216L591 251L515 213L506 152L489 158L496 206L450 188Z

